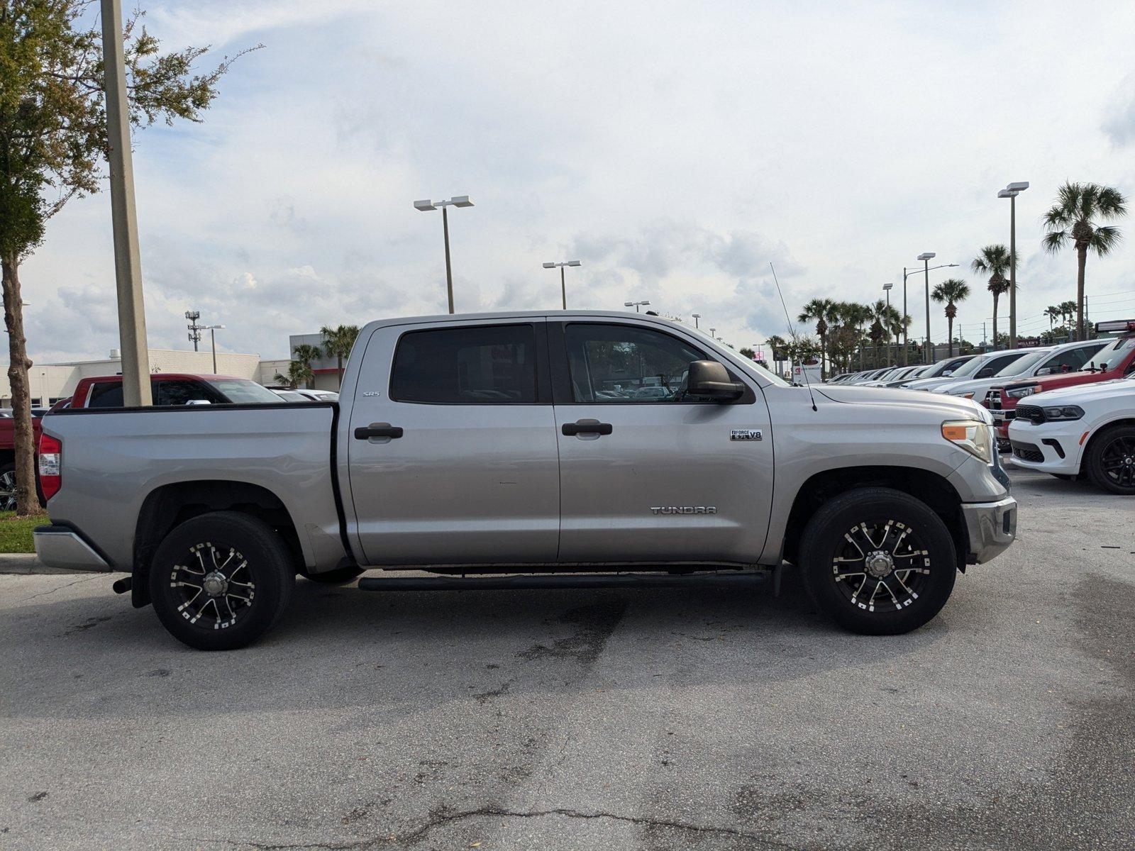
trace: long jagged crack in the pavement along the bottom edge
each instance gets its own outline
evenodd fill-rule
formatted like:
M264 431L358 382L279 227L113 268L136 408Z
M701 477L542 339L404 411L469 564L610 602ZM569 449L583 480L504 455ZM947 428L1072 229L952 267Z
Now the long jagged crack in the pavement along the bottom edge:
M641 825L645 827L673 829L673 831L688 831L690 833L701 833L718 836L730 836L733 839L750 840L753 842L762 843L765 848L775 849L791 849L792 845L787 843L775 842L767 837L758 836L756 834L746 833L745 831L738 831L733 827L718 827L716 825L696 825L690 821L679 821L675 819L665 818L650 818L648 816L623 816L617 812L605 812L603 810L596 810L591 812L585 812L582 810L573 810L566 807L557 807L548 810L506 810L502 807L478 807L473 810L447 810L445 808L436 810L431 814L430 819L423 824L421 827L410 831L403 834L390 834L388 836L373 836L371 839L355 840L345 843L287 843L287 844L264 844L258 842L235 842L233 840L226 840L229 844L236 846L255 848L260 851L288 851L289 849L318 849L320 851L355 851L358 849L375 848L379 844L390 844L390 843L414 843L423 839L430 831L443 825L453 824L454 821L464 821L470 818L543 818L545 816L562 816L564 818L582 818L582 819L597 819L607 818L613 821L623 821L627 824Z

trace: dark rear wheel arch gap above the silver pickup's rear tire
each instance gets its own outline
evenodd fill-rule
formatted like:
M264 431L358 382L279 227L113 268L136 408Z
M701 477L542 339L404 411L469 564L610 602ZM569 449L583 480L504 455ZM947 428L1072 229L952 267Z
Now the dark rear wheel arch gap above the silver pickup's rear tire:
M224 479L162 485L146 495L138 512L131 589L135 608L150 603L150 563L162 539L180 523L216 511L239 512L264 521L279 533L297 570L303 565L303 547L295 521L284 502L268 488Z

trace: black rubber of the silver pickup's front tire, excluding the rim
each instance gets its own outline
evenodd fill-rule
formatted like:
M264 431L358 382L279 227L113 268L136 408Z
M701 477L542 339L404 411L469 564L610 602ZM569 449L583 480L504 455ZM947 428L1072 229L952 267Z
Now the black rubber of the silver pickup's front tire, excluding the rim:
M858 523L894 520L910 526L930 551L931 573L918 599L902 609L868 612L852 605L832 576L832 559L843 534ZM842 494L816 512L804 530L800 570L815 604L844 629L869 635L916 630L945 605L957 575L953 539L925 503L899 490L869 488Z

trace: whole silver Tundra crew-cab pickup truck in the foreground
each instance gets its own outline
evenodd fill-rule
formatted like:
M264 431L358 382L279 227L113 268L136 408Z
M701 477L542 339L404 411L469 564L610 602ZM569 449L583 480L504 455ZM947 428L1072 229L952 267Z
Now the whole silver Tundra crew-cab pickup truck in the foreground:
M894 634L1017 520L973 402L789 385L590 311L371 322L338 403L51 413L40 472L41 561L128 573L116 590L201 649L261 635L296 574L368 568L360 588L600 587L788 562L839 624Z

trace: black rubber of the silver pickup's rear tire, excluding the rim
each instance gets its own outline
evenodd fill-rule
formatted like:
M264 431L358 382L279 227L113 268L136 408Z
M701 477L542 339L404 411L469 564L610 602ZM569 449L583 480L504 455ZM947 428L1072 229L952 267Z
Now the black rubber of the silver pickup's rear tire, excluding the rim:
M233 547L249 562L255 583L247 612L222 629L191 624L171 588L175 565L184 563L190 548L209 542L218 549ZM162 540L150 564L150 598L162 625L179 641L199 650L232 650L255 641L276 622L289 597L295 576L284 542L262 521L236 512L213 512L187 520Z

